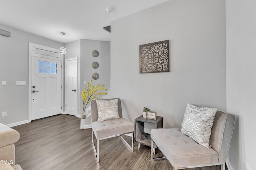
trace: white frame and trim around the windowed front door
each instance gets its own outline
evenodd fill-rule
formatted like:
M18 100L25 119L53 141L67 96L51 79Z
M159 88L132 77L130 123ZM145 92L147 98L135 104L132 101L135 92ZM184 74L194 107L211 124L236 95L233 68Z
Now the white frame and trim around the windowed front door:
M34 51L35 49L39 49L39 51ZM63 54L60 54L60 50L59 49L54 49L51 47L46 47L43 45L38 45L35 43L28 43L28 121L31 122L31 106L32 106L32 98L31 98L31 93L32 93L32 56L36 56L36 57L44 57L46 59L56 59L59 58L61 60L61 104L62 104L62 109L61 112L63 113L63 107L64 107L64 68L63 68L63 61L64 61L64 56ZM45 51L49 51L49 52L54 52L54 57L53 56L49 56L46 53L40 53L40 49L43 50L43 52Z

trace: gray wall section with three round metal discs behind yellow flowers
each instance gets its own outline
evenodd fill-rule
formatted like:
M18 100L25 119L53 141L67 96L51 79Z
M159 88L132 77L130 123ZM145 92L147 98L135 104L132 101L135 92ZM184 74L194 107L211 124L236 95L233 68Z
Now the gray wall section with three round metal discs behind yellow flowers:
M90 82L94 72L97 72L100 78L93 80L93 85L100 83L104 84L106 88L110 88L110 42L80 39L66 43L65 46L67 49L67 53L64 55L65 59L78 58L78 79L80 79L78 80L80 82L78 84L80 86L80 90L78 91L78 114L80 114L82 113L81 93L85 87L84 81ZM99 52L98 57L92 56L92 51L94 50ZM99 63L97 69L92 68L94 61Z

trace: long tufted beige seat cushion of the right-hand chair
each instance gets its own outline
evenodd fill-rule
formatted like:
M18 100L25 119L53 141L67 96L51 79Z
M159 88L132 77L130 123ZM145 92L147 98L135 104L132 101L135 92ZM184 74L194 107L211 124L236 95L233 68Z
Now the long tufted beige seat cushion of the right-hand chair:
M215 150L198 145L180 129L152 129L151 139L174 167L212 164L219 160Z

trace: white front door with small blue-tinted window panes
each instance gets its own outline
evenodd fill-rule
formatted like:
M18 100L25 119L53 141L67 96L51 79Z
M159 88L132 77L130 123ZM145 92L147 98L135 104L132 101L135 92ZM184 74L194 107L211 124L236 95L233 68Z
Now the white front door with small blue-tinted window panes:
M60 114L61 61L32 56L31 120Z

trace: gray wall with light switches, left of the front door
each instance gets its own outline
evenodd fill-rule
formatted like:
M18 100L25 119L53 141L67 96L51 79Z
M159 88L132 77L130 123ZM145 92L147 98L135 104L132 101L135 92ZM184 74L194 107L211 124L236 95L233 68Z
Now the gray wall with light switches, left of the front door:
M0 35L0 123L11 124L28 120L28 42L56 49L61 43L4 25L0 29L11 32L11 37ZM25 80L26 86L16 86L16 80Z

